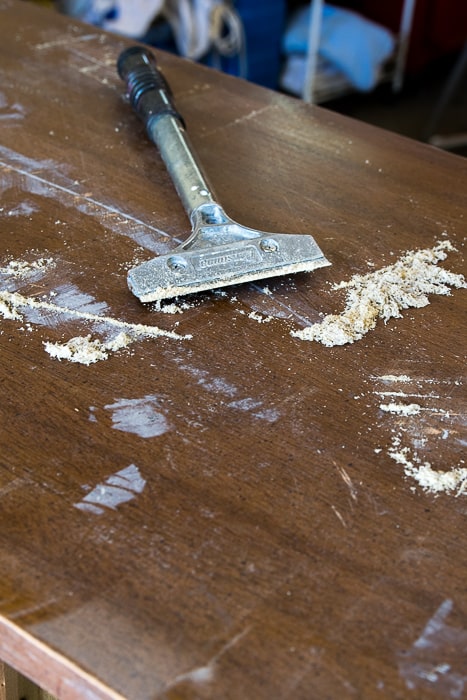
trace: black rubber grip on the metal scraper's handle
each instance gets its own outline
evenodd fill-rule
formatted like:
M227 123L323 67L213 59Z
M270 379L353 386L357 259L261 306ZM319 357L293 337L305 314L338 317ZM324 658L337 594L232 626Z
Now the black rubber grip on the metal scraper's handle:
M126 83L131 106L150 135L151 124L162 115L169 114L185 126L183 117L175 107L169 84L149 49L141 46L125 49L118 57L117 70Z

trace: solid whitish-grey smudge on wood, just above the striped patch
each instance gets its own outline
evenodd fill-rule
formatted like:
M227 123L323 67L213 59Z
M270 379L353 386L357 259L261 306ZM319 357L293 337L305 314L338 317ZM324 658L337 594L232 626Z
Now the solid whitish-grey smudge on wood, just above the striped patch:
M141 399L119 399L104 408L112 413L112 427L143 438L157 437L170 430L157 396Z

